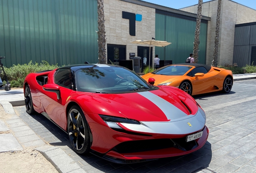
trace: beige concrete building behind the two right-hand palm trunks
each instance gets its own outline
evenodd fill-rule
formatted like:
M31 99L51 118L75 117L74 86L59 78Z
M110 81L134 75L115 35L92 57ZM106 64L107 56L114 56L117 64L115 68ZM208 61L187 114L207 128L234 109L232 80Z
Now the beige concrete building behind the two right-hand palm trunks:
M208 23L206 64L211 64L213 56L217 7L218 0L205 2L203 3L202 7L202 15L211 17L211 21ZM197 13L197 5L182 8L180 10ZM231 0L222 0L218 49L219 65L233 64L235 24L255 21L256 10L243 6L242 4L233 2Z

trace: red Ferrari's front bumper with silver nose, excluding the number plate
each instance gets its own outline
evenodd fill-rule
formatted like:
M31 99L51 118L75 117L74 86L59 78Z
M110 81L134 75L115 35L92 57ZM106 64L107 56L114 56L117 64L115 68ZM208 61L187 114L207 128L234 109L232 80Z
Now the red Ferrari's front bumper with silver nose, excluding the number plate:
M136 163L186 155L200 149L209 135L202 109L199 109L194 116L155 123L155 126L147 126L147 122L136 125L137 129L132 126L132 128L122 126L123 131L109 128L97 114L87 115L86 118L93 138L92 153L115 163ZM144 130L145 128L147 131ZM158 133L152 133L153 131ZM199 131L203 131L202 137L186 142L187 135Z

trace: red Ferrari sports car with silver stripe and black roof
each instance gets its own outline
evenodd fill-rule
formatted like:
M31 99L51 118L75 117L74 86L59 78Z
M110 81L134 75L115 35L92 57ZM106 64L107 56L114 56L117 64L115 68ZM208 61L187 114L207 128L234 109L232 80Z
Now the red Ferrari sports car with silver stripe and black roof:
M184 91L153 86L127 68L78 64L30 73L26 111L66 131L74 151L115 163L185 155L209 134L206 116Z

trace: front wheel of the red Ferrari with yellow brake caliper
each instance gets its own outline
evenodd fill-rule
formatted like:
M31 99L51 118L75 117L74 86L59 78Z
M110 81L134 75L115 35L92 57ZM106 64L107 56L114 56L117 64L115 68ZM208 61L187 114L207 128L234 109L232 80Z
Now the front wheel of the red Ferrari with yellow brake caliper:
M90 151L89 128L83 111L72 106L68 112L68 136L74 151L78 154Z

